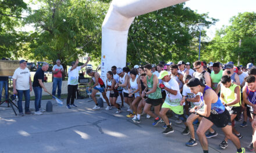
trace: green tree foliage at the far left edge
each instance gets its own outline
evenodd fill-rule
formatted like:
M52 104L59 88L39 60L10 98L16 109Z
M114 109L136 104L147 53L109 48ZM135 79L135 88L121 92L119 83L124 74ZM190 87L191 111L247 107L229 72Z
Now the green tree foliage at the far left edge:
M0 57L10 58L12 54L17 54L22 46L22 32L17 32L15 28L19 26L22 19L23 10L27 10L27 4L20 0L0 1Z

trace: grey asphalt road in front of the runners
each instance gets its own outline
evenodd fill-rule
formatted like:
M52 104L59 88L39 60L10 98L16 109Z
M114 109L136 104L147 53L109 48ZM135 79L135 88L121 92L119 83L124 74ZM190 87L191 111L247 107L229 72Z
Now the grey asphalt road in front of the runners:
M48 100L42 101L42 106ZM63 99L65 102L65 99ZM141 116L141 123L133 123L126 117L126 109L115 114L116 109L93 111L91 99L76 100L77 108L67 110L55 101L53 112L43 115L15 116L8 107L0 107L0 152L202 152L200 143L187 147L190 135L182 135L184 125L177 125L171 118L174 133L163 135L163 123L152 126L153 119ZM5 106L3 104L2 106ZM23 104L24 106L24 104ZM34 101L30 102L34 108ZM246 147L251 141L251 127L237 130ZM229 140L229 147L221 150L218 145L224 136L208 139L209 152L236 152Z

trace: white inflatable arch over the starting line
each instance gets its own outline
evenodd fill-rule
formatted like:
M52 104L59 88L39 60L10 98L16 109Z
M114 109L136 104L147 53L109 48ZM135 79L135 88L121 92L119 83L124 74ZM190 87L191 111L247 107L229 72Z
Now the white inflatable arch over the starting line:
M111 67L125 67L128 31L134 17L188 0L113 0L102 24L101 78Z

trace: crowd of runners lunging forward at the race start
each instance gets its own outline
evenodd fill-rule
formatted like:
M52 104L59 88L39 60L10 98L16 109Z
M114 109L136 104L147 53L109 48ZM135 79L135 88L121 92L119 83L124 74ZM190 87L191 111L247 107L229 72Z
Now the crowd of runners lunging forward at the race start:
M182 134L191 135L187 146L197 145L193 124L200 122L196 133L204 152L208 152L207 138L218 135L212 125L221 128L225 134L219 147L225 149L230 139L237 152L245 152L239 140L243 136L234 128L234 120L240 120L243 111L244 122L241 126L247 126L247 117L252 122L253 140L247 148L253 151L256 147L256 67L251 63L247 64L247 68L236 67L232 62L225 65L210 63L207 67L207 63L202 61L195 61L193 67L194 70L190 68L190 63L185 64L184 61L141 67L135 65L131 70L129 67L113 66L106 74L105 83L98 72L87 70L94 81L91 94L95 102L93 109L99 109L95 93L101 92L108 104L106 110L116 107L116 113L120 113L125 101L129 105L127 117L140 123L144 112L148 118L154 118L153 126L161 121L165 123L163 134L174 132L166 115L172 111L178 118L175 122L184 123ZM118 96L121 105L116 103Z

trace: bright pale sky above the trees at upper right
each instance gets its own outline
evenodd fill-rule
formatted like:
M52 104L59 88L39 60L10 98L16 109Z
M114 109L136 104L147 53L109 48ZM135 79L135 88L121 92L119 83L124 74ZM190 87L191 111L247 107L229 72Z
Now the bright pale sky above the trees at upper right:
M190 0L186 2L187 7L197 10L197 13L209 13L209 17L219 19L216 25L212 25L207 31L207 36L214 38L215 31L222 25L230 25L229 19L238 13L256 12L256 0Z

